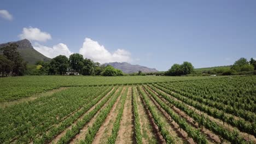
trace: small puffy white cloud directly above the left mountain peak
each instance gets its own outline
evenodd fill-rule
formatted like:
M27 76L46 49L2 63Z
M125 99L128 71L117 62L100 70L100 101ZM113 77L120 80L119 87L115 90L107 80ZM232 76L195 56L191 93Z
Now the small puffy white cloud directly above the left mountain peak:
M23 28L22 33L19 35L20 39L46 41L51 39L51 35L46 32L41 32L39 28L29 27Z

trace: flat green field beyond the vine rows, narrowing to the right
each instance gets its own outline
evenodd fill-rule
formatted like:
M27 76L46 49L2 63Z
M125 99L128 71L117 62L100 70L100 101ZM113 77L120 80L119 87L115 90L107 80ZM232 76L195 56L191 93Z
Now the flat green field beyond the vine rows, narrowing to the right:
M9 102L60 87L136 85L150 82L169 82L213 79L219 77L171 76L19 76L0 79L0 102Z

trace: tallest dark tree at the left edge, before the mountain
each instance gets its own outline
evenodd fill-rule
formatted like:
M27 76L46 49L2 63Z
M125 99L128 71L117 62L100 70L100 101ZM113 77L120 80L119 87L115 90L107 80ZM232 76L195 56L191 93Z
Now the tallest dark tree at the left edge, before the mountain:
M13 62L13 67L11 69L11 74L13 76L24 75L27 68L27 62L22 59L20 53L17 51L17 47L18 45L16 44L10 44L1 48L3 55Z

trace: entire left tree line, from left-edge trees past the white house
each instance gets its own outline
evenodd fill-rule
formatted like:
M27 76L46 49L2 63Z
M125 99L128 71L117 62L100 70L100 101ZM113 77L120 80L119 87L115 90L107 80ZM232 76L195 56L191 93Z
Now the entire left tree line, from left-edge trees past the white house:
M1 76L21 75L103 75L121 76L123 71L115 69L111 65L94 62L83 58L79 53L73 53L69 58L63 55L56 56L49 62L38 61L36 68L28 65L17 50L17 44L10 44L0 49L0 74ZM67 73L68 72L68 73Z

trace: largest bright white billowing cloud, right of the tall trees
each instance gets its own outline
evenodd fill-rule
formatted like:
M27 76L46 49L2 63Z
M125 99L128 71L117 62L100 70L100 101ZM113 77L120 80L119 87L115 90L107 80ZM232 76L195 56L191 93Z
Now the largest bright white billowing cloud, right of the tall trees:
M103 45L98 44L97 41L90 38L85 38L83 47L79 50L79 53L86 58L100 63L132 61L130 52L124 49L118 49L114 53L110 53Z

